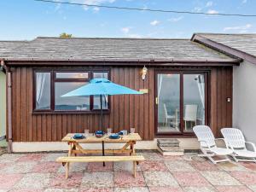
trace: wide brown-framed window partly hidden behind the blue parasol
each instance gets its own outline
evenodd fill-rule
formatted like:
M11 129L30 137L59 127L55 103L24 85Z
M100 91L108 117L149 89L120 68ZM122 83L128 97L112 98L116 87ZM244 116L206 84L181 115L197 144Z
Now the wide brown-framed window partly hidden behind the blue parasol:
M34 111L93 112L99 111L99 96L62 97L71 90L88 84L92 78L108 79L106 71L36 71ZM54 94L52 94L54 93ZM102 97L102 108L108 110L108 96Z

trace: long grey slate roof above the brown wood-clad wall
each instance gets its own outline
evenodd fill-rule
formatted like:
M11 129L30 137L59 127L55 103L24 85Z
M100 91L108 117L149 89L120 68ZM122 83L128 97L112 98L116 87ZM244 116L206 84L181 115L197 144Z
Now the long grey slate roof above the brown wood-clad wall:
M81 61L231 59L189 39L152 38L36 38L27 42L0 42L0 58Z

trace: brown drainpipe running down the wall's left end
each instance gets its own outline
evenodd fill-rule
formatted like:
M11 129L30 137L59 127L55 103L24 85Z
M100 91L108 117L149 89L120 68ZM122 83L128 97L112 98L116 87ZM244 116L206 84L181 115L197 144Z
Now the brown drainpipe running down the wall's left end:
M1 67L6 70L7 75L7 122L8 122L8 152L13 151L13 133L12 133L12 77L9 67L6 67L4 61L1 61Z

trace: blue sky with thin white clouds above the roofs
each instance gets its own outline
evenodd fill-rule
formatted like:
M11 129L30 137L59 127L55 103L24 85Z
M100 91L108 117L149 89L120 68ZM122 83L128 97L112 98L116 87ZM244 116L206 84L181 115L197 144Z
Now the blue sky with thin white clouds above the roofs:
M141 9L256 15L256 0L55 0ZM0 1L0 39L38 36L191 38L194 32L255 33L256 17L186 15L92 8L33 0Z

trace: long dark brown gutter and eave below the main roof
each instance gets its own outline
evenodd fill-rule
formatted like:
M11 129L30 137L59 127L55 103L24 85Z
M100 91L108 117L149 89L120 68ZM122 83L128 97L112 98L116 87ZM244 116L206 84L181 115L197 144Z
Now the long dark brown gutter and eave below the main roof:
M190 59L102 59L102 60L78 60L78 59L25 59L9 58L5 59L9 66L41 66L41 65L106 65L106 66L238 66L241 59L224 60L190 60Z

